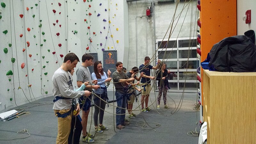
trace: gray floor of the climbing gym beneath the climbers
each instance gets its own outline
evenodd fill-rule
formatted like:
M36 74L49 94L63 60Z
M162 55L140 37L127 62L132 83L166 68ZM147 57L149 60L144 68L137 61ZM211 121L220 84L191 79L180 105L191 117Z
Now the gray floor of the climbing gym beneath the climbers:
M157 97L156 92L156 97ZM170 106L169 110L164 109L163 98L161 100L159 113L163 115L171 115L171 111L176 107L180 101L182 93L167 93L167 101ZM113 92L108 92L109 99L113 99ZM150 98L152 102L155 101L155 93L151 92ZM173 100L172 100L172 99ZM52 103L53 97L44 98L38 100L40 103ZM140 97L139 97L140 100ZM97 133L95 135L95 143L182 143L182 144L192 144L198 143L198 137L191 137L187 135L187 132L193 131L196 128L196 122L199 121L199 112L192 110L196 102L196 93L185 93L182 106L180 111L173 114L172 116L162 116L156 111L156 104L153 103L150 108L152 109L149 113L140 113L140 111L134 111L138 116L130 119L130 125L125 126L122 130L115 129L113 122L113 106L106 107L106 112L104 114L103 124L109 128L108 131L103 133ZM112 103L113 104L113 103ZM116 105L116 103L114 103ZM149 100L149 104L152 104ZM33 106L32 104L25 104L22 106ZM138 103L134 102L133 108L138 107ZM16 108L18 109L18 108ZM14 118L10 121L3 122L0 121L0 139L13 139L18 137L26 137L27 134L17 134L18 131L27 129L28 133L31 134L30 137L26 139L18 140L0 140L0 143L56 143L57 136L57 118L54 116L52 110L52 104L46 104L41 106L36 106L33 108L26 108L30 115L20 116L19 118ZM92 114L94 108L91 109L92 112L89 114L87 131L89 131L90 125L91 131L93 132L93 119ZM109 113L107 113L109 112ZM127 115L128 116L128 115ZM91 124L92 120L92 124ZM150 123L159 123L161 126L154 130L143 130L141 126L137 125L136 122L145 121ZM154 127L154 124L150 124ZM145 128L149 128L145 127ZM197 126L197 131L199 128ZM80 140L80 143L84 143Z

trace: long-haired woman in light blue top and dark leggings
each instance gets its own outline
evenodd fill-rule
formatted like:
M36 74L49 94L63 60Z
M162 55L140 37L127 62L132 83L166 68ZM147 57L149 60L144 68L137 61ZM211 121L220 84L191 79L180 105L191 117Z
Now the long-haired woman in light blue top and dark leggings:
M108 100L108 92L107 92L107 86L105 83L108 83L112 80L110 77L111 71L108 70L108 77L106 73L102 69L102 63L100 61L94 62L93 66L94 72L92 73L92 80L97 80L97 84L100 85L100 89L97 89L95 91L95 94L99 96L101 99L107 101ZM103 116L104 116L104 110L106 107L106 102L103 100L100 100L97 96L93 96L93 102L94 102L94 114L93 114L93 120L94 120L94 128L95 131L98 133L102 133L102 130L108 130L107 127L105 127L103 123ZM100 113L100 116L99 116ZM99 117L99 126L98 126L98 117Z

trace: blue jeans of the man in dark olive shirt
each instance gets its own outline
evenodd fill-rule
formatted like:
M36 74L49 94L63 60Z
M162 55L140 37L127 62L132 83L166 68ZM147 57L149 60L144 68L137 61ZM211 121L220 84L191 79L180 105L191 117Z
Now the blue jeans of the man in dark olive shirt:
M116 100L117 107L126 108L127 97L125 92L121 93L116 91ZM125 109L122 108L116 108L116 114L125 114ZM125 115L116 115L116 126L124 124L124 118Z

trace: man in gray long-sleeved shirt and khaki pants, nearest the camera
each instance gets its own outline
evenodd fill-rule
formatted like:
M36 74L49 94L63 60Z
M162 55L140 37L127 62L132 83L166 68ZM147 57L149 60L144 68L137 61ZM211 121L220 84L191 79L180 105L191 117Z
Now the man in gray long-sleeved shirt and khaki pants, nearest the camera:
M73 90L73 79L68 70L71 70L76 67L79 59L75 53L68 53L64 57L64 61L60 68L58 68L53 76L53 96L55 97L53 102L53 110L56 116L58 116L58 135L56 143L68 143L68 135L70 133L72 111L75 106L72 108L72 101L75 98L79 98L82 95L88 97L91 92L89 91L74 91ZM75 100L76 111L79 114L80 107L78 101Z

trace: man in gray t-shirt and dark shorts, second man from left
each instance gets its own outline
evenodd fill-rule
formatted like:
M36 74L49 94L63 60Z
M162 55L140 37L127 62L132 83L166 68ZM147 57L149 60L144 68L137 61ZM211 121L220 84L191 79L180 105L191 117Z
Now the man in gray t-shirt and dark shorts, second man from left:
M82 56L82 64L76 71L77 86L81 87L81 85L84 82L89 81L89 84L86 86L85 89L90 92L92 92L92 89L97 90L98 88L100 88L100 85L92 85L92 84L97 84L97 80L92 81L91 73L88 68L88 66L92 65L92 60L93 60L92 55L89 53L85 53ZM83 126L82 141L87 142L87 143L94 142L94 140L91 139L91 137L93 137L93 135L86 131L88 115L89 115L90 107L91 107L91 99L92 99L92 95L90 95L87 99L84 100L84 107L82 110L82 126Z

